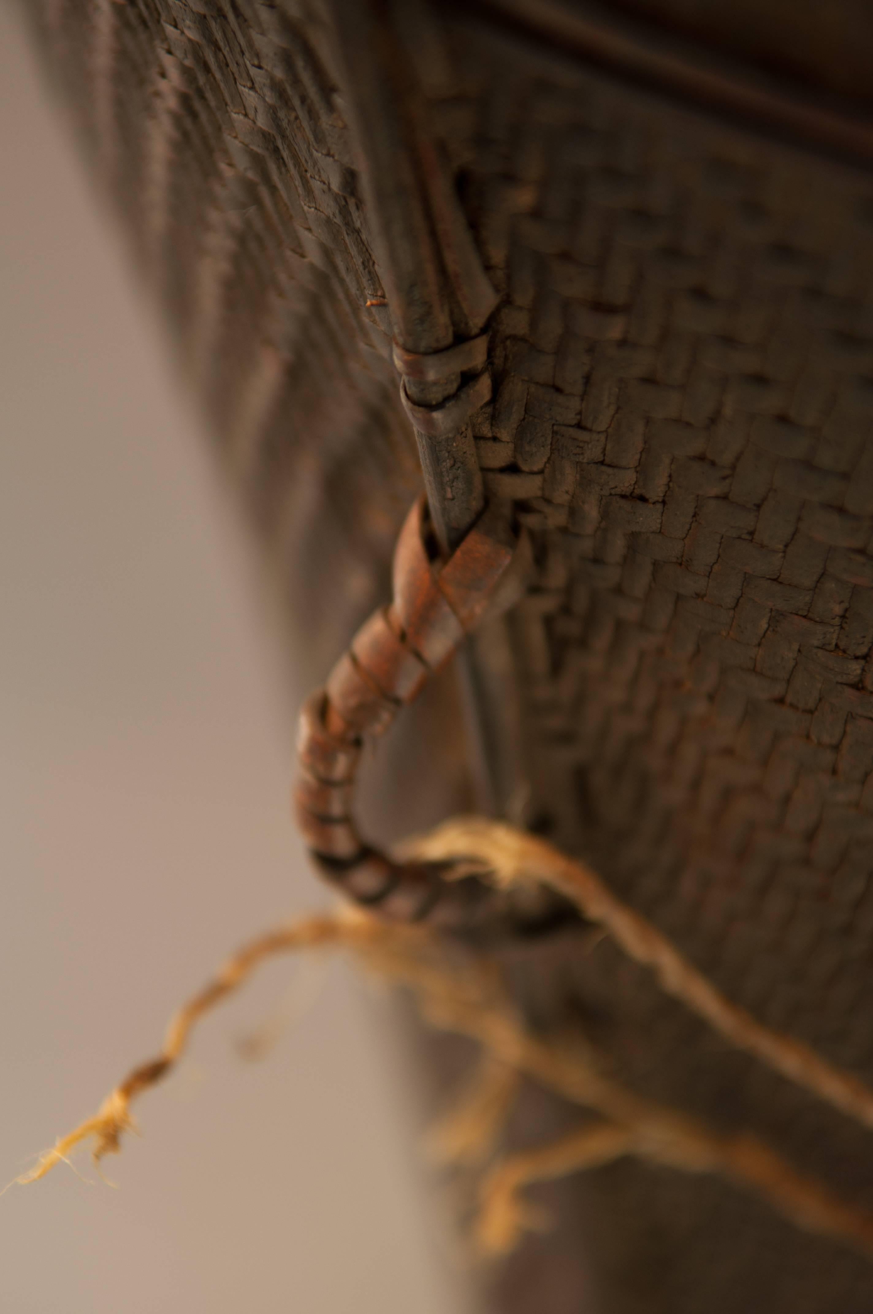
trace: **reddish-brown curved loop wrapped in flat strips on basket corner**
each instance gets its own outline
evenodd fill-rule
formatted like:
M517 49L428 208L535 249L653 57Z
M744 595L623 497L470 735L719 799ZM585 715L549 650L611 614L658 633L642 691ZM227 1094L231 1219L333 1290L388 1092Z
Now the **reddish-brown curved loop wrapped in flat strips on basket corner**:
M515 541L498 509L486 509L442 565L426 533L419 498L397 541L393 600L362 625L302 710L295 807L316 866L356 903L393 921L468 925L494 901L486 886L447 882L444 863L393 861L367 844L352 815L364 736L381 735L448 661L513 561Z

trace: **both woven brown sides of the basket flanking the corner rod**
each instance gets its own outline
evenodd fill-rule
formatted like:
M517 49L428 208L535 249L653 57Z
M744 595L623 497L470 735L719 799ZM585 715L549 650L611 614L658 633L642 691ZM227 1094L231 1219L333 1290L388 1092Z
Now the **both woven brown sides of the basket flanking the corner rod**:
M375 568L419 481L323 18L251 0L41 12L314 620L317 677L385 591ZM535 547L514 619L526 819L731 999L873 1080L869 175L451 7L443 30L405 12L502 298L472 428L488 494ZM529 950L517 980L534 1016L581 1014L640 1091L873 1196L864 1133L728 1053L609 946ZM539 1139L561 1114L536 1099ZM510 1260L501 1310L563 1314L571 1288L581 1305L589 1263L607 1314L870 1307L860 1261L720 1184L618 1164L552 1196L563 1231Z

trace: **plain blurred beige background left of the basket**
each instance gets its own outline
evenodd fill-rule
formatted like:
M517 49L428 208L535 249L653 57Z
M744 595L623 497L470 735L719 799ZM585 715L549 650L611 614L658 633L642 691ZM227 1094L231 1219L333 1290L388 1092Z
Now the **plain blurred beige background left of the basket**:
M0 1176L88 1114L241 938L323 899L254 551L0 0ZM0 1200L8 1314L440 1314L379 1007L333 968L262 1063L283 963L138 1108ZM306 988L313 984L308 978ZM312 991L310 991L312 993Z

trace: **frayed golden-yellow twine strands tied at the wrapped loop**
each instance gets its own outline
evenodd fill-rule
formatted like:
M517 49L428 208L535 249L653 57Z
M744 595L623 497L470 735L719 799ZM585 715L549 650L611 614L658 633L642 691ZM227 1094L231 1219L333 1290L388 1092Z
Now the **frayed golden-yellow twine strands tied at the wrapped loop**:
M502 883L519 879L554 883L586 916L603 925L632 958L653 967L669 993L735 1043L765 1056L778 1071L784 1068L772 1062L773 1054L780 1058L785 1046L791 1053L806 1053L803 1046L768 1031L724 1000L644 918L615 900L593 872L542 841L497 823L460 821L440 827L408 845L408 850L436 858L469 855L480 871L493 871ZM589 1121L568 1137L493 1164L479 1197L475 1236L480 1250L502 1252L515 1244L525 1229L543 1226L542 1215L523 1200L522 1190L529 1183L632 1155L682 1172L718 1173L755 1192L798 1227L832 1236L873 1257L873 1215L797 1172L763 1141L747 1134L720 1135L697 1118L638 1096L609 1075L603 1060L586 1045L529 1031L493 963L472 958L425 929L394 926L362 912L304 918L252 941L176 1013L160 1054L135 1068L108 1096L96 1117L63 1137L17 1180L24 1184L43 1177L88 1139L93 1141L95 1160L117 1152L122 1134L133 1129L131 1102L168 1074L204 1013L239 988L270 957L331 945L352 949L379 975L409 988L422 1016L434 1026L483 1046L480 1074L455 1114L436 1133L435 1142L444 1158L461 1163L488 1158L521 1075L600 1116L594 1125ZM816 1055L813 1058L830 1075L827 1089L834 1088L836 1074L838 1088L848 1081L849 1089L857 1085L866 1092L855 1079L830 1068ZM806 1081L799 1084L816 1089Z

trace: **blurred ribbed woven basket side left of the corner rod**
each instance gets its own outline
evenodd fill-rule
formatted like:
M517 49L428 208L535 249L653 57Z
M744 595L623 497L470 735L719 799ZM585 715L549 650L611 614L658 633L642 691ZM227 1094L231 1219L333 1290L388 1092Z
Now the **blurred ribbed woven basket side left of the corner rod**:
M204 0L28 11L288 603L312 622L314 679L384 591L373 562L387 569L419 487L321 28Z

